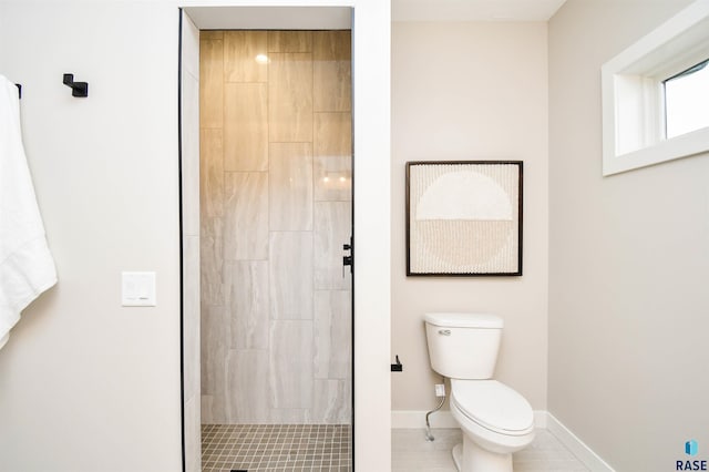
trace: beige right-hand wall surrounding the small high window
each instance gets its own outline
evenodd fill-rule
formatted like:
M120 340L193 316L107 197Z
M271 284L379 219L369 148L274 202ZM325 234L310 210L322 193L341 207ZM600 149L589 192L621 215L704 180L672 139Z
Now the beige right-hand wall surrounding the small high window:
M549 411L619 471L709 459L709 156L602 177L600 65L687 3L549 23Z

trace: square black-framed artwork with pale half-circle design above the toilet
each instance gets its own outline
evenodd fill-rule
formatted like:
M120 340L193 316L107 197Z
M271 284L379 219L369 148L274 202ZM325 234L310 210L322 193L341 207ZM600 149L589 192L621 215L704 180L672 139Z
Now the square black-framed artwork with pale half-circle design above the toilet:
M521 276L522 167L408 162L407 275Z

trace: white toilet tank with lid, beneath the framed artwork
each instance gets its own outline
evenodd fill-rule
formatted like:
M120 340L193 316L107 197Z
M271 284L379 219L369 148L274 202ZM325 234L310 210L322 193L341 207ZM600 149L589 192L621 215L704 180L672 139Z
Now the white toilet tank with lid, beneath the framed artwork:
M491 379L504 321L490 314L427 314L431 367L451 379Z

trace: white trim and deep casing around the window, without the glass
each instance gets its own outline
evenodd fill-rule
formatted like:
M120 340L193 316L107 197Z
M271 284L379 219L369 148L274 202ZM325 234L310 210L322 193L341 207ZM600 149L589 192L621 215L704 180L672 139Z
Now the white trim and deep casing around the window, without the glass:
M602 66L604 176L709 151L709 127L665 138L662 100L665 79L708 57L709 0L698 0Z

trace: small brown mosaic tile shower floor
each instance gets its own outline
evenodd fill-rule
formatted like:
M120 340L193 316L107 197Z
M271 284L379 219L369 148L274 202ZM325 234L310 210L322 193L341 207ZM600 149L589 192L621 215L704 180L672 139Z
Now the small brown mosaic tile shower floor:
M349 424L203 424L202 471L351 470Z

